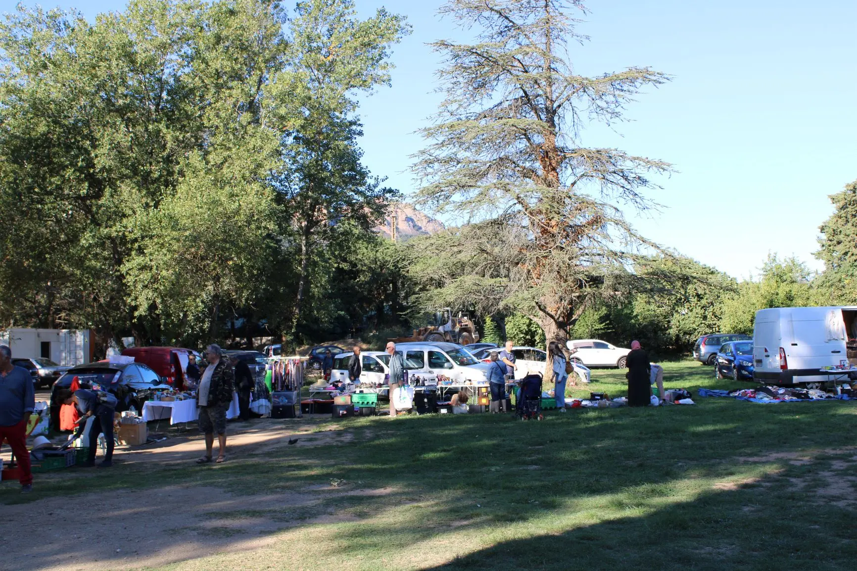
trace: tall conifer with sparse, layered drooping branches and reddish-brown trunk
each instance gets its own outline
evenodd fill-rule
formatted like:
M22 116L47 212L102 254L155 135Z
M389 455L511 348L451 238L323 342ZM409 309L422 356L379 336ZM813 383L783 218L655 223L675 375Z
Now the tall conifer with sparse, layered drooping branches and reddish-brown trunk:
M649 208L647 173L669 169L586 147L583 129L620 121L636 93L668 78L636 67L575 73L567 48L584 40L578 0L451 0L440 13L476 40L433 44L446 99L423 129L417 201L471 222L437 241L450 255L426 266L433 295L518 310L561 339L628 261L614 244L646 243L615 205Z

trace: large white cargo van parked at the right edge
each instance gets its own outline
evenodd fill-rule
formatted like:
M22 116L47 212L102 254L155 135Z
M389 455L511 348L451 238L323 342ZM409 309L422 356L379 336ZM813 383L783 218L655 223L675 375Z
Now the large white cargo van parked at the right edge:
M857 365L857 306L758 310L752 341L754 381L827 382L822 367Z

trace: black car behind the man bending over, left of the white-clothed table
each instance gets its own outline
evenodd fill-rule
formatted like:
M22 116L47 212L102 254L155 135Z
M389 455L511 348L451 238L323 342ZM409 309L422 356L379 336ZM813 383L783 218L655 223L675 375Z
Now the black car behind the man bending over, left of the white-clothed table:
M117 375L118 379L114 381ZM117 390L113 391L119 398L117 412L128 411L132 406L142 412L143 403L149 400L153 392L172 388L163 384L158 374L142 363L117 364L100 361L78 365L61 376L51 388L51 426L54 430L59 430L59 407L63 404L57 402L57 391L69 388L75 376L81 388L93 388L93 384L117 387Z

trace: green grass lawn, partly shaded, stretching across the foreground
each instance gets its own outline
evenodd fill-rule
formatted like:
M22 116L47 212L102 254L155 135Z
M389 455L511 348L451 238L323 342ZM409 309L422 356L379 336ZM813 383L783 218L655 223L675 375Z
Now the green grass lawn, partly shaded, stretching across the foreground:
M117 466L89 472L87 488L294 498L210 508L225 522L214 528L221 549L158 569L854 569L857 403L699 399L697 388L736 385L691 361L664 369L665 386L691 389L696 406L548 411L542 422L307 420L295 428L330 443L237 452L216 467ZM570 393L626 394L624 371L593 380ZM81 478L15 491L0 488L0 502L37 502L39 513L42 498L81 491ZM253 518L258 529L230 523ZM246 543L261 536L275 541Z

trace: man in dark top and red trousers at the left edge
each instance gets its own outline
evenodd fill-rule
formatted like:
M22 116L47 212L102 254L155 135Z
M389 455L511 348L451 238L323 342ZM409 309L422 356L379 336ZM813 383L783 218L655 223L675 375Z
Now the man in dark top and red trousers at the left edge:
M23 367L12 364L12 352L0 345L0 442L5 439L18 459L21 493L33 490L33 472L27 451L27 421L36 407L33 379Z

